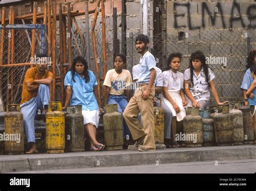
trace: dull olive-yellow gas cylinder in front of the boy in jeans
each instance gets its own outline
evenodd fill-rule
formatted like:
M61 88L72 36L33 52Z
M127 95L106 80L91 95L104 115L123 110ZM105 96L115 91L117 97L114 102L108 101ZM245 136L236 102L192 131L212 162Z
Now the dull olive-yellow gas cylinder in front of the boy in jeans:
M104 143L107 151L123 149L123 120L117 112L117 104L107 104L103 115Z

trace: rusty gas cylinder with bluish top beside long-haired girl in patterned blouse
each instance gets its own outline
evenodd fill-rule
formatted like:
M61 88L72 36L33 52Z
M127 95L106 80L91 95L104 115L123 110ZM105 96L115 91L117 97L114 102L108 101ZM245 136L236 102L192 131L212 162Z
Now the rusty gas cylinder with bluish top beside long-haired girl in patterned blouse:
M199 115L203 118L203 134L204 142L203 146L214 146L215 135L214 135L214 120L210 119L210 110L200 110Z

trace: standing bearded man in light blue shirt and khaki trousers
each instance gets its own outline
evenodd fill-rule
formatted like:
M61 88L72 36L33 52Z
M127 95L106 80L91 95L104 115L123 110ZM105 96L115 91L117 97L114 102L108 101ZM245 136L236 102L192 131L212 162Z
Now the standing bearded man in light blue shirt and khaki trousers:
M123 117L130 129L135 146L142 145L139 151L156 151L154 142L154 80L156 78L156 60L147 50L149 37L138 35L135 40L137 52L140 57L140 74L138 79L139 88L126 106ZM144 128L139 125L137 116L141 113Z

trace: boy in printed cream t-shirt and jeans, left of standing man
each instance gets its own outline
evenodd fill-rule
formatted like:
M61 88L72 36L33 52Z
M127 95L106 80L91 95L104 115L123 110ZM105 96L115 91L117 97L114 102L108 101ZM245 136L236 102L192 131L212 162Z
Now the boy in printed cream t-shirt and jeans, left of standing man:
M117 54L114 57L114 69L107 71L103 85L105 86L104 105L117 104L118 112L122 114L127 106L131 94L129 88L132 77L129 70L124 70L126 57L124 54ZM125 92L126 96L123 95ZM123 119L124 148L129 145L130 131Z

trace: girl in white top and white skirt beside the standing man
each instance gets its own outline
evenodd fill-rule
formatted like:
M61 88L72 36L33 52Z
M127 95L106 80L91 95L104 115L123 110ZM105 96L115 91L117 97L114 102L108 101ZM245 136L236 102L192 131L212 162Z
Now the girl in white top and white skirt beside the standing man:
M172 111L171 135L173 147L180 147L176 141L177 121L182 121L186 116L186 99L183 92L183 73L180 73L180 53L172 53L167 59L168 66L163 72L164 103Z

